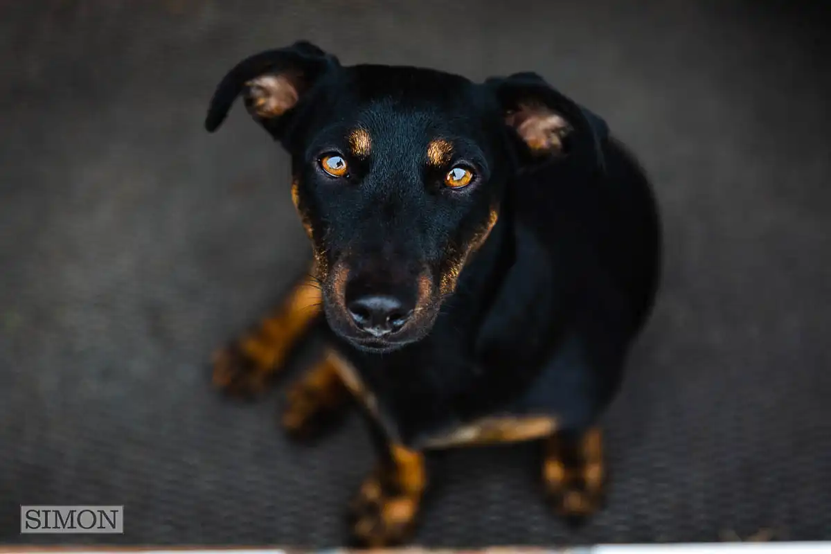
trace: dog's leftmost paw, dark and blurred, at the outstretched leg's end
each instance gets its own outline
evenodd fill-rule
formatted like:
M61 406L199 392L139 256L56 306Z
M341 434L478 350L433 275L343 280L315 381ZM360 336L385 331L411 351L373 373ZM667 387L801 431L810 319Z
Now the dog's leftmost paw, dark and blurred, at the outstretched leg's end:
M214 353L213 383L225 394L253 398L268 388L273 368L234 343Z

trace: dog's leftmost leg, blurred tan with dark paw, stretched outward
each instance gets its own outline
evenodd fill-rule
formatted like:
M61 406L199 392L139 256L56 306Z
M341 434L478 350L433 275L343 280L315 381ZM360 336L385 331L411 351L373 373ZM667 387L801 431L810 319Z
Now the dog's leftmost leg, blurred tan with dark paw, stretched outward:
M214 385L236 396L262 392L321 312L317 282L304 278L252 331L214 355Z

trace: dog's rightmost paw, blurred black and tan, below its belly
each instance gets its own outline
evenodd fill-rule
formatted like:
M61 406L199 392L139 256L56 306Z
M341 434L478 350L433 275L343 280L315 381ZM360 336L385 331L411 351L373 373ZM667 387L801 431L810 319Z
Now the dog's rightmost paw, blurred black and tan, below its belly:
M600 429L576 437L555 434L549 438L543 483L554 512L572 527L583 525L600 510L607 483Z

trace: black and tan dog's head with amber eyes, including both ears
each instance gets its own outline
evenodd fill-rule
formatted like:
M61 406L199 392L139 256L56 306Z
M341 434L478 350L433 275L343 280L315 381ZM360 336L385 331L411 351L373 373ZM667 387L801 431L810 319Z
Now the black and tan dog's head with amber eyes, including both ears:
M240 95L292 156L292 198L332 329L370 351L430 331L517 169L583 143L596 151L590 115L531 73L477 84L414 67L342 66L297 42L229 71L209 131Z

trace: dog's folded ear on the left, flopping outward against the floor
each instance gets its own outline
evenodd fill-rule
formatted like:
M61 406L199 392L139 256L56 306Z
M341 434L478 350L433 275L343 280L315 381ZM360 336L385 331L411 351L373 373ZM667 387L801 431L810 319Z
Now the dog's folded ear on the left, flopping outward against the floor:
M327 71L339 66L335 56L310 42L299 41L240 61L219 82L205 118L213 133L243 95L248 113L276 140L283 138L286 117Z

